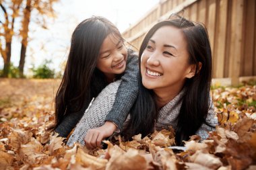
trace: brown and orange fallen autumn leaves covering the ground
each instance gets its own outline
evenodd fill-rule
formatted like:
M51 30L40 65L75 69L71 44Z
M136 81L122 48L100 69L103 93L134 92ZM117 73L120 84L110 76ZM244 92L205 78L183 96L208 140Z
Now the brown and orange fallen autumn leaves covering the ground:
M219 120L185 151L174 146L174 130L154 132L108 148L88 150L53 134L53 99L59 81L0 79L0 169L256 169L256 86L213 90Z

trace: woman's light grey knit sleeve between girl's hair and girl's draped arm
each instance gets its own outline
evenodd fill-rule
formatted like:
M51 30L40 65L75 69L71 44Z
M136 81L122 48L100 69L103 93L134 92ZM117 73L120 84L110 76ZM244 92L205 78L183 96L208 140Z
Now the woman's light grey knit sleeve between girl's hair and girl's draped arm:
M88 110L83 114L81 120L75 127L74 132L69 137L67 145L72 146L75 142L84 145L84 138L86 137L88 130L104 124L106 114L113 108L113 103L120 83L121 80L110 83L100 92L94 101L92 101L92 105L88 107Z

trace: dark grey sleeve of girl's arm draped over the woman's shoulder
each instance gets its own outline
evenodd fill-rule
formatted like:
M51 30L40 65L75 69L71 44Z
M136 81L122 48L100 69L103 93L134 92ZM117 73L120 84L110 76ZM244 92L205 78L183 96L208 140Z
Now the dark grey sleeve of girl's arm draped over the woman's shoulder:
M137 93L139 91L137 84L138 75L139 65L137 54L132 50L128 50L125 74L121 77L122 82L117 91L113 109L110 110L105 118L105 121L110 121L116 124L119 130L122 130L123 123L137 98Z

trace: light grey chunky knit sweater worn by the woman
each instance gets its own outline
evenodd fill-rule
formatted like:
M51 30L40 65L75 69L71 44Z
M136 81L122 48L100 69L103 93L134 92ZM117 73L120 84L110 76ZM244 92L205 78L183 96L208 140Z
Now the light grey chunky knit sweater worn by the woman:
M88 112L84 114L80 122L77 124L73 134L70 136L67 142L69 146L72 146L74 142L84 144L84 138L88 130L104 124L105 116L113 108L115 95L120 83L121 81L111 83L102 90L98 97L96 97L96 99L92 102L92 105L90 105ZM172 126L174 129L177 127L176 118L179 114L179 110L181 110L182 96L183 91L174 97L174 99L169 101L169 103L164 105L164 107L160 110L158 120L156 121L156 130L168 128L168 126ZM213 104L211 104L206 121L212 126L216 126L218 124L218 120L214 114ZM201 128L197 130L196 134L201 136L202 139L205 139L208 136L207 132L214 129L215 128L207 126L206 124L202 124Z

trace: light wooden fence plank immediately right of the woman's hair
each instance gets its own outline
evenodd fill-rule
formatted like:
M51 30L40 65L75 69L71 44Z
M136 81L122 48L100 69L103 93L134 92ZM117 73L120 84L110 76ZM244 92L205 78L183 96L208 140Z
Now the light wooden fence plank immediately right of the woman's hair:
M220 0L220 10L218 15L218 28L216 31L216 78L224 77L224 58L226 49L226 24L227 24L227 9L228 1Z

